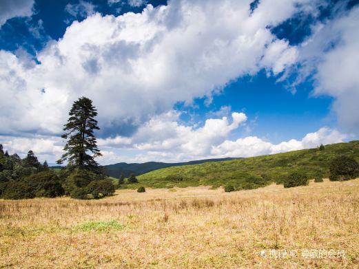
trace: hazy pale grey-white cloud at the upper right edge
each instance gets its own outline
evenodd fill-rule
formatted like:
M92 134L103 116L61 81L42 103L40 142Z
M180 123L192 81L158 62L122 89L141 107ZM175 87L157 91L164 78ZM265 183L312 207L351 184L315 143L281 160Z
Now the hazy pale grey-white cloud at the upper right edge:
M331 21L314 25L309 39L300 45L299 81L314 72L314 95L335 98L334 111L347 132L359 131L359 7L340 12Z

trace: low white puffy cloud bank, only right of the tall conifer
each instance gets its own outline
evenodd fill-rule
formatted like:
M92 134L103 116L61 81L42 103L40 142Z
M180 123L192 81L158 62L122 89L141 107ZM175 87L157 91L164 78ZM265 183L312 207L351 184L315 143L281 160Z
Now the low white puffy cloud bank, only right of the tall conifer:
M314 133L308 133L302 140L291 139L278 144L256 136L228 140L232 131L245 125L247 121L245 114L234 112L231 119L209 118L203 127L198 128L179 124L178 117L178 112L170 111L152 118L140 127L132 138L117 136L100 139L99 144L109 151L118 148L145 152L145 155L139 153L132 156L131 160L135 161L181 162L204 158L252 157L309 149L320 144L342 142L348 138L336 129L323 127ZM114 160L114 155L112 151L109 160Z

